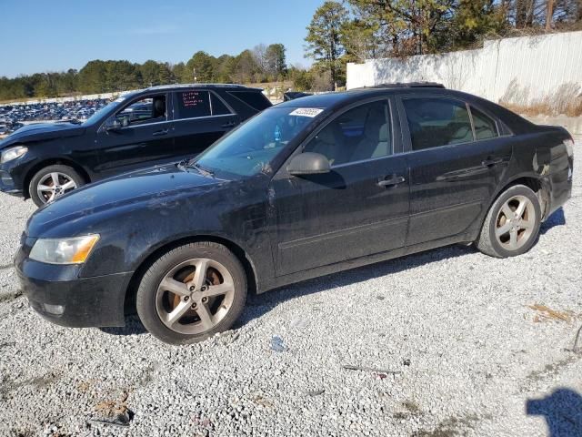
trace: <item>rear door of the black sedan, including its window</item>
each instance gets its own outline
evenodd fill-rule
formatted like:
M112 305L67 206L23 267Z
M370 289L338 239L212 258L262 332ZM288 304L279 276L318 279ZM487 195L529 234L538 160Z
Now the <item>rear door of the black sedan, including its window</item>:
M476 140L469 106L416 92L399 98L410 178L407 246L468 233L495 190L493 147Z

